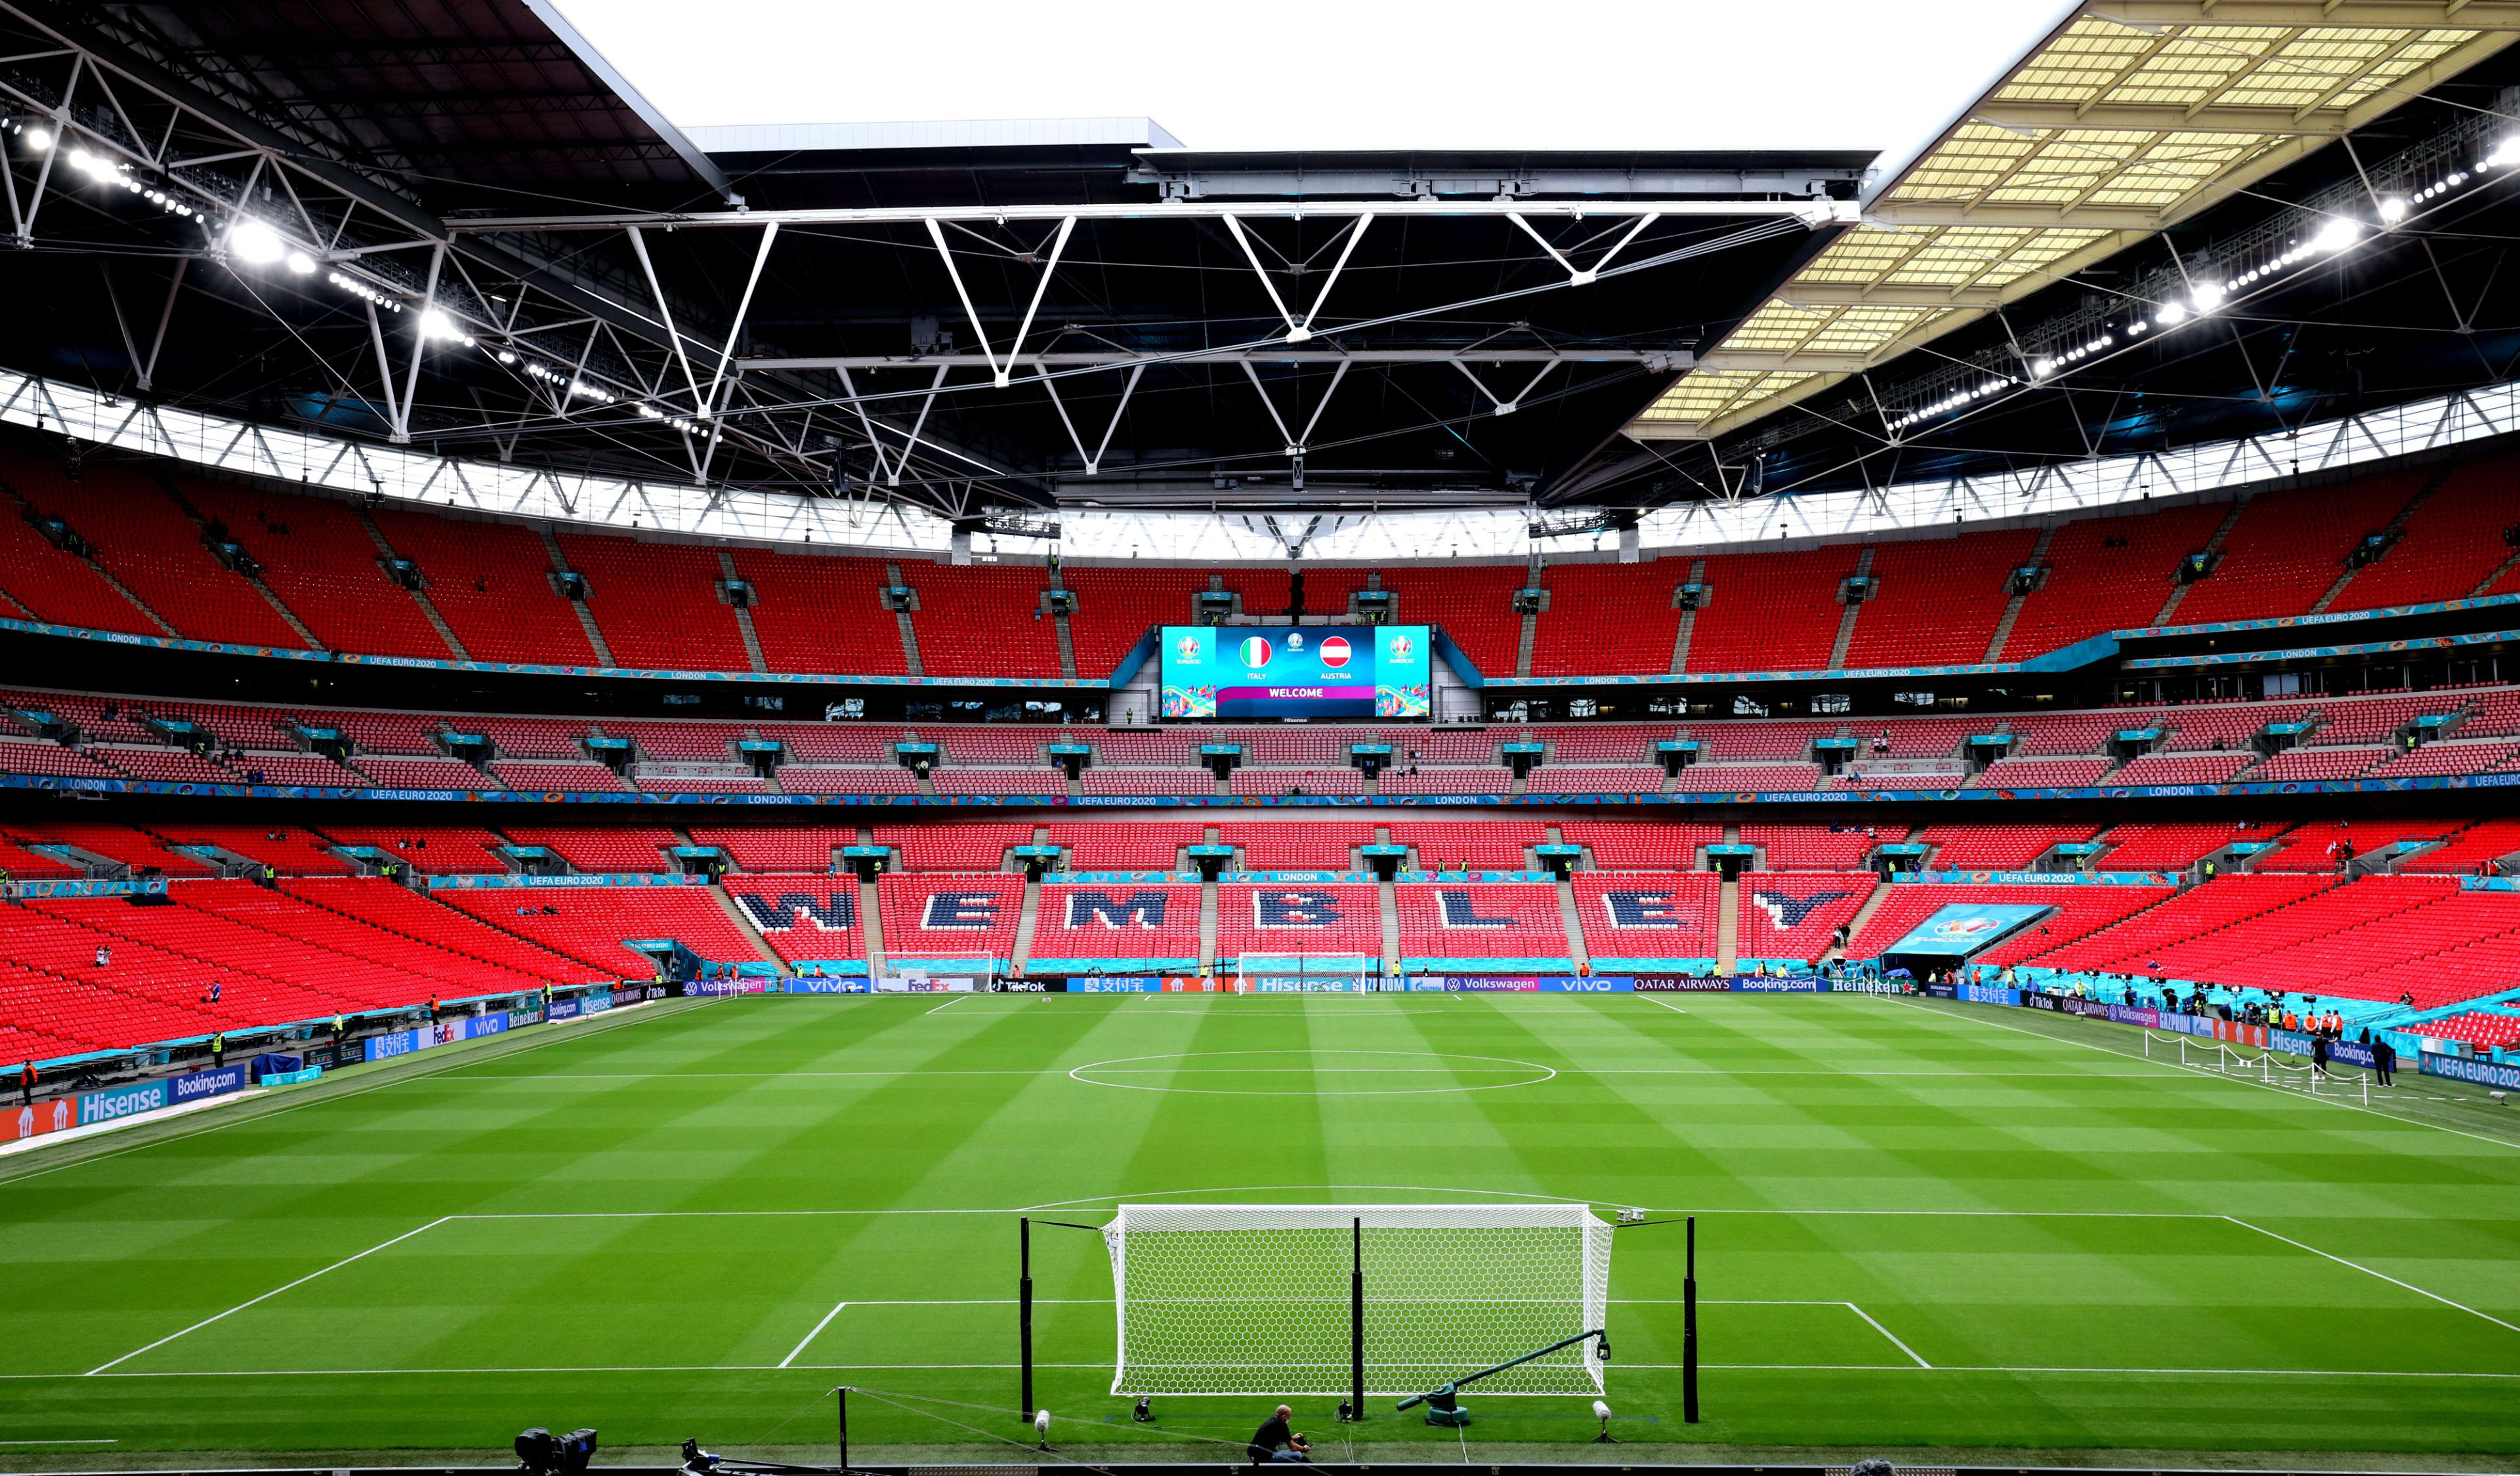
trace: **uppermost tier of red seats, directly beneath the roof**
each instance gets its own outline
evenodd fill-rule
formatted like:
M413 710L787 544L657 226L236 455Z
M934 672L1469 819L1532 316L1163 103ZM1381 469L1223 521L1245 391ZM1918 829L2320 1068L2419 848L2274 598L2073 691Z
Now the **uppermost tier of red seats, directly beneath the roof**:
M2422 474L2260 494L2238 509L2210 572L2192 584L2177 582L2177 564L2213 539L2233 511L2225 504L2074 516L2046 539L2036 529L1993 529L1714 554L1696 579L1704 594L1693 612L1676 594L1698 567L1691 559L1557 564L1540 574L1547 605L1530 617L1512 605L1530 582L1522 567L1383 569L1378 587L1391 597L1391 620L1441 627L1484 675L2029 660L2109 630L2480 594L2507 564L2495 549L2510 476L2510 461L2460 466L2369 564L2349 564L2349 554L2417 499ZM1084 564L1056 574L1071 605L1061 617L1046 605L1053 574L1041 564L910 559L895 564L912 592L897 620L885 607L892 577L879 559L602 531L537 536L512 524L212 484L171 463L98 466L68 481L58 463L23 448L0 451L0 486L33 514L60 519L86 549L66 552L28 526L5 534L18 557L0 592L35 620L247 647L799 675L907 675L915 647L930 678L1058 678L1068 667L1101 678L1149 630L1194 622L1212 584L1225 584L1220 592L1242 615L1288 607L1285 574L1273 569ZM2316 526L2318 536L2303 542L2296 526ZM207 544L242 549L255 572L222 564ZM416 569L416 589L388 577L393 559ZM1865 584L1850 587L1857 567ZM2029 592L2013 589L2021 569L2036 569ZM575 599L562 592L570 574ZM733 605L733 587L746 605ZM1356 569L1318 569L1310 589L1308 612L1348 615L1366 582ZM832 620L834 610L852 617ZM910 647L897 625L907 625Z

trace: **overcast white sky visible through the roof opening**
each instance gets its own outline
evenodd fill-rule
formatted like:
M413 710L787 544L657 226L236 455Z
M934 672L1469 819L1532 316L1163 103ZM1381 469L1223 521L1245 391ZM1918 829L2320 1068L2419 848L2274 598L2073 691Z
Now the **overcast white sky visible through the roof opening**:
M1905 149L2056 0L562 0L698 123L1147 116L1192 149Z

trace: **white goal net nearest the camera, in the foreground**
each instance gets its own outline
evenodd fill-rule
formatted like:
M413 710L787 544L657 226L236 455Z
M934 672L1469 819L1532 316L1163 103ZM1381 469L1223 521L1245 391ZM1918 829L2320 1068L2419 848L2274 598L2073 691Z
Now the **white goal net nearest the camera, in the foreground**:
M1603 1327L1610 1224L1588 1204L1124 1204L1111 1393L1351 1393L1363 1222L1366 1393L1424 1393ZM1600 1393L1593 1343L1477 1385Z

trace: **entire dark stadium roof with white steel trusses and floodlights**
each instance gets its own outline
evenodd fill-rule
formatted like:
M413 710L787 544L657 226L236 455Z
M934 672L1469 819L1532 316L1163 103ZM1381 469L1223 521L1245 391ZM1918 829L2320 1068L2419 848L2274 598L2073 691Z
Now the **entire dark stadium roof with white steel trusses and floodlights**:
M2520 277L2490 267L2520 207L2500 176L2424 181L2500 149L2515 35L2520 0L2092 0L1875 166L1217 154L1149 118L678 131L547 0L0 0L30 247L0 363L965 529L1570 504L1633 526L2502 380ZM2391 189L2417 209L2381 227ZM2354 209L2351 259L2260 282ZM2202 270L2233 332L2137 353L2129 320Z

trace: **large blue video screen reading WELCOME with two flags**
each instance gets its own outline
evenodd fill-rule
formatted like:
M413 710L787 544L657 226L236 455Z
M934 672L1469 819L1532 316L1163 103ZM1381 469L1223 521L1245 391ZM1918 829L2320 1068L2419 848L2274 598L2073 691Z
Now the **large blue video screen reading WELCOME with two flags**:
M1167 718L1426 718L1424 625L1167 625Z

